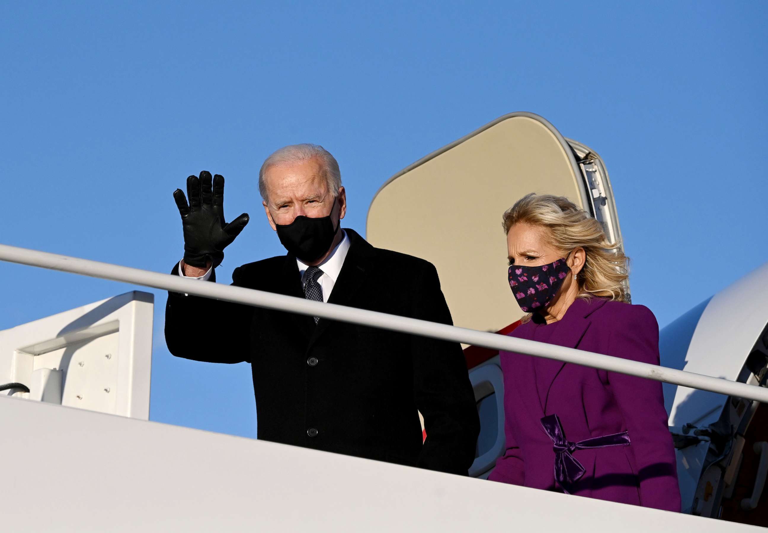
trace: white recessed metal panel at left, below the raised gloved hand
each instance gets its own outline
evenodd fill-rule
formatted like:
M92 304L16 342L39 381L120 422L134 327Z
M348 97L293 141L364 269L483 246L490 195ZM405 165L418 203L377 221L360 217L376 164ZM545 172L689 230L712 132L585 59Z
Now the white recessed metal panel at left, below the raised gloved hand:
M2 395L149 419L153 299L134 291L0 331Z

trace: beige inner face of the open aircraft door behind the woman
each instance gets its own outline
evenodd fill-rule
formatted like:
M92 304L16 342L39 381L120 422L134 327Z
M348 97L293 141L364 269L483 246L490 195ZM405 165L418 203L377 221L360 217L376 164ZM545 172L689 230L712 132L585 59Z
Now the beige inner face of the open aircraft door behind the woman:
M528 193L592 210L562 135L538 115L508 114L390 178L366 237L434 263L457 326L497 331L523 314L509 291L502 214Z

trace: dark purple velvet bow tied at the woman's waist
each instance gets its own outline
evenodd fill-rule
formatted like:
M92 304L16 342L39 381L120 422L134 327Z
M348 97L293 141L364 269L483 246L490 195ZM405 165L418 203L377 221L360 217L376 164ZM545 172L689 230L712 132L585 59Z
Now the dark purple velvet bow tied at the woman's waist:
M560 484L565 494L571 494L578 479L584 475L584 467L571 453L576 450L626 446L630 443L627 432L593 437L581 442L571 442L565 438L565 432L558 415L545 416L541 419L541 425L544 426L545 432L554 442L552 446L554 449L554 479Z

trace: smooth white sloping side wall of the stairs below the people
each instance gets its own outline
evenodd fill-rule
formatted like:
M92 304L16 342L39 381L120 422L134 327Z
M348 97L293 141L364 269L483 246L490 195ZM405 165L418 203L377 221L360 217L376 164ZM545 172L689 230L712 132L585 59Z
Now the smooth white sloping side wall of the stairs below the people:
M759 531L0 398L8 531Z

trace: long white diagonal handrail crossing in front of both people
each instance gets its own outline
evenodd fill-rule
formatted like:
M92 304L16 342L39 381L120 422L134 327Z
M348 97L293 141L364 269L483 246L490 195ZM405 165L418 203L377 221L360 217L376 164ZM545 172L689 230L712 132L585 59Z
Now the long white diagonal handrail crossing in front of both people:
M515 339L514 337L502 336L496 333L476 331L475 329L447 326L426 320L361 310L355 307L339 306L333 303L314 302L294 296L284 296L282 294L267 293L243 287L219 283L203 283L180 276L171 276L170 274L150 272L149 270L101 263L77 257L60 256L55 253L28 250L27 248L12 247L5 244L0 244L0 260L40 266L41 268L51 270L61 270L62 272L71 272L84 276L93 276L103 278L104 280L151 286L155 289L170 290L175 293L194 294L227 302L243 303L248 306L266 307L267 309L286 311L288 313L319 316L362 326L389 329L401 333L412 333L414 335L432 337L433 339L449 340L455 343L471 344L508 352L526 353L531 356L557 359L565 363L576 363L610 372L619 372L630 376L673 383L674 385L690 387L692 389L708 390L727 396L737 396L739 398L768 403L768 388L765 387L703 376L664 366L640 363L630 359L622 359L621 357L604 356L601 353L537 343L532 340Z

